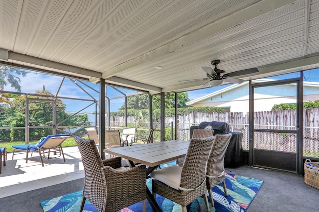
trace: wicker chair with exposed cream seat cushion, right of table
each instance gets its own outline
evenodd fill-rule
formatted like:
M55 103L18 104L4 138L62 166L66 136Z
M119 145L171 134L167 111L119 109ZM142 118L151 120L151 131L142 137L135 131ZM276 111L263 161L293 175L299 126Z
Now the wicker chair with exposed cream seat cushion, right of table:
M206 195L206 162L214 137L191 139L182 167L168 166L152 172L152 191L182 206L204 196L207 211L209 203Z

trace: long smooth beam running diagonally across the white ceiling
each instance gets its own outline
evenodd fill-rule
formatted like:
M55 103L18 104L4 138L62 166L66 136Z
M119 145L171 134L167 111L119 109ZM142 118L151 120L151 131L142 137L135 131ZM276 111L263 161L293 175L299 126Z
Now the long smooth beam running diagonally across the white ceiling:
M102 78L107 79L114 76L125 69L132 68L142 63L157 59L163 55L173 53L174 51L188 46L198 40L204 39L213 34L246 22L252 18L263 15L267 12L278 9L287 4L293 3L295 0L262 0L249 7L246 7L238 12L235 12L225 18L222 18L214 23L208 24L192 33L182 36L166 45L161 46L151 52L141 55L137 58L124 62L114 68L106 70L102 74Z

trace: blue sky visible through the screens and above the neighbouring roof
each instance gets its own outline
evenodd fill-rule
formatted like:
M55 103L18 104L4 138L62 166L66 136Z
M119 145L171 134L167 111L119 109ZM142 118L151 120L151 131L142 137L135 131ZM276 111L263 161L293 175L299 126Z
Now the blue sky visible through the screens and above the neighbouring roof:
M45 86L45 89L47 91L50 91L54 94L56 94L57 89L61 83L62 77L54 76L50 74L44 74L34 71L25 70L27 72L26 77L21 77L21 92L23 93L34 93L36 90L42 90L43 85ZM288 78L296 78L299 77L299 74L292 73L285 76L276 76L271 77L268 79L288 79ZM305 81L311 81L311 82L319 82L319 69L306 71L304 72L304 78ZM99 91L99 85L92 84L89 82L83 83L89 85L93 89ZM97 92L94 92L93 90L89 89L88 87L82 85L80 82L76 82L78 85L81 85L81 87L86 90L90 95L92 95L94 98L99 100L99 94ZM231 85L231 84L230 84ZM211 87L206 89L200 89L196 91L189 91L188 97L190 100L197 99L199 97L202 97L204 95L210 94L212 92L218 91L220 89L223 89L225 87L228 87L230 85L222 85L219 87ZM4 87L5 91L14 91L10 86ZM136 93L136 91L132 90L126 90L118 88L123 93ZM72 82L69 79L65 79L61 90L59 91L58 96L60 97L72 97L72 98L79 98L79 99L92 99L89 97L85 92L83 92L80 88L78 88L74 82ZM122 96L120 93L112 89L111 87L107 87L107 96L112 97L118 97ZM66 111L78 111L88 105L91 104L91 102L85 102L85 101L79 101L79 100L66 100L62 99L63 103L66 104ZM119 107L121 107L124 104L124 98L111 100L111 111L117 111ZM95 106L90 106L86 108L83 112L93 112L95 111Z

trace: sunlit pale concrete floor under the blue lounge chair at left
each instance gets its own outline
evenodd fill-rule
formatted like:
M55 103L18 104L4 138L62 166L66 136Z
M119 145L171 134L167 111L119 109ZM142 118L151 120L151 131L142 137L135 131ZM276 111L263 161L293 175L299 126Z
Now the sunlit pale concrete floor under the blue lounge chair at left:
M77 146L63 147L63 157L44 159L41 165L39 154L29 153L25 163L26 153L7 153L6 166L2 166L0 174L0 198L84 178L81 155Z

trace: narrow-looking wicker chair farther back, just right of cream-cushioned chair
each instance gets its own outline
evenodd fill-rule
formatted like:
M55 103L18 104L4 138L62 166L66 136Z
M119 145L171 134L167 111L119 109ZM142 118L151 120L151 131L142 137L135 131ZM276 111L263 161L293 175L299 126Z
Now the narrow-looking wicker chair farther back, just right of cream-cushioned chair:
M227 189L225 184L225 168L224 158L228 144L230 142L232 134L218 134L215 135L213 147L211 148L210 155L207 161L206 170L206 186L210 197L210 203L214 207L213 194L211 189L218 184L222 183L225 196L227 197Z

